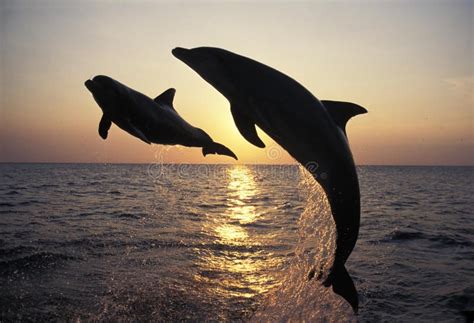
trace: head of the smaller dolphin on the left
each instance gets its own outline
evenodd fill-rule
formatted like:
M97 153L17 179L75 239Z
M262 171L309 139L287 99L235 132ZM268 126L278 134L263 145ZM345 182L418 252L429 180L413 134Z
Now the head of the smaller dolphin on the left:
M84 85L104 113L112 113L123 100L123 85L108 76L97 75L85 81Z

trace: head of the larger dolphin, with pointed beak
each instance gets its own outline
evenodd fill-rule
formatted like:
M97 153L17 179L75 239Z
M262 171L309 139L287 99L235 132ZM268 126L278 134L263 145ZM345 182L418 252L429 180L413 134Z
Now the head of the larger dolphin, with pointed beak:
M197 47L186 49L176 47L171 53L183 63L191 67L204 80L212 84L222 94L230 94L235 90L230 68L235 54L214 47Z

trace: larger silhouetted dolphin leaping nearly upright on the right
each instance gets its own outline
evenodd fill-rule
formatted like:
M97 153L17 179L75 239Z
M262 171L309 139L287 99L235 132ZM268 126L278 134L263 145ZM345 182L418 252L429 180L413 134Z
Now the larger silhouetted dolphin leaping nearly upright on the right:
M287 75L223 49L178 47L172 53L229 100L235 124L250 143L265 147L255 130L258 125L322 186L337 229L334 263L323 283L332 285L357 312L357 291L344 264L359 233L360 193L345 126L367 110L353 103L319 101ZM313 276L314 271L309 278Z

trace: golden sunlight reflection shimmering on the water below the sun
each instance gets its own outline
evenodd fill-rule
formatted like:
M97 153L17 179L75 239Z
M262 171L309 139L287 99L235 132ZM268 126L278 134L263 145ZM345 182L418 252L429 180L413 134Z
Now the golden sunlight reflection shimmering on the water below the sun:
M260 194L255 174L249 167L236 165L227 170L227 207L206 230L212 232L216 242L229 246L229 250L209 253L202 264L206 271L218 272L219 280L199 277L214 285L214 293L227 297L250 298L267 292L274 286L274 277L268 274L268 268L275 261L263 251L242 251L240 248L261 246L258 235L248 226L262 216L254 204Z

